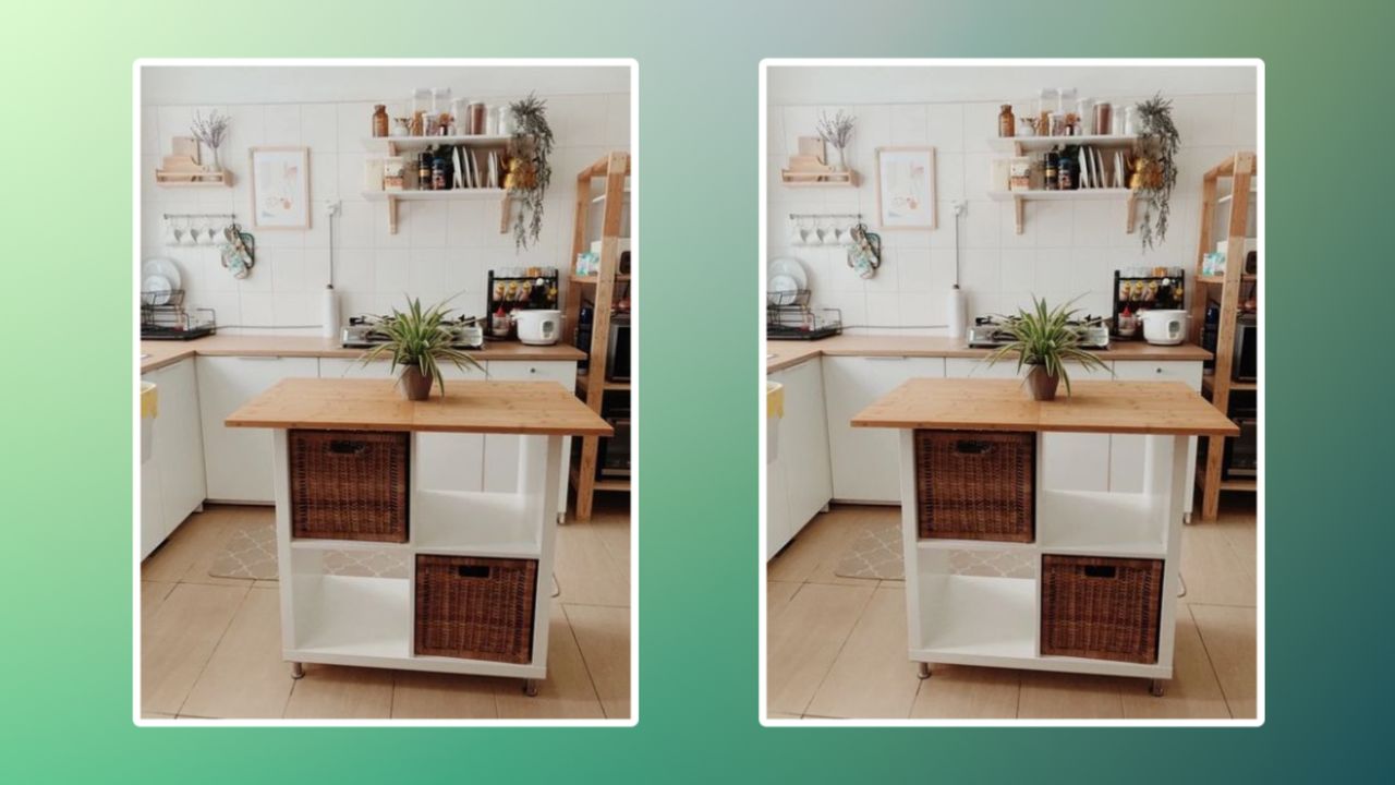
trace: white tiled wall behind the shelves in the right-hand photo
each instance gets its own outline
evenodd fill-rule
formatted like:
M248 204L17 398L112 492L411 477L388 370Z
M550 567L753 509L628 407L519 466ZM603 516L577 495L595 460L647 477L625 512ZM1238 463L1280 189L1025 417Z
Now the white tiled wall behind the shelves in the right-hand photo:
M1140 85L1147 88L1147 85ZM1024 91L1027 92L1027 91ZM1151 95L1099 96L1116 106ZM1016 98L1016 96L1014 96ZM1124 232L1122 201L1028 203L1024 232L1017 235L1011 203L988 200L990 152L997 113L1011 99L983 96L972 103L896 105L774 105L769 110L769 257L792 256L809 270L813 305L843 310L844 324L865 331L939 334L946 320L947 289L954 281L954 215L950 203L967 201L960 235L960 286L968 313L1011 311L1032 293L1060 302L1081 296L1080 306L1109 314L1109 288L1120 267L1180 265L1194 270L1201 175L1226 155L1256 145L1254 95L1180 95L1173 116L1182 133L1177 187L1172 197L1170 229L1163 243L1141 249L1138 235ZM790 189L780 169L801 135L815 135L819 112L844 110L857 116L848 165L858 170L857 189ZM1031 109L1017 106L1020 113ZM864 281L847 265L841 249L798 247L791 243L791 212L861 212L876 226L876 148L933 145L936 148L937 223L933 230L879 232L883 263Z

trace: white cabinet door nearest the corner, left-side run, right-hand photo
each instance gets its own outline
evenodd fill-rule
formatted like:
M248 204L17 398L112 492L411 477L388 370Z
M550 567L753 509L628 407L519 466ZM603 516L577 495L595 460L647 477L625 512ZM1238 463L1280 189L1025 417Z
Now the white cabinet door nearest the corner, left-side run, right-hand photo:
M790 489L790 534L794 536L833 499L822 360L787 369L771 380L785 386L780 451Z

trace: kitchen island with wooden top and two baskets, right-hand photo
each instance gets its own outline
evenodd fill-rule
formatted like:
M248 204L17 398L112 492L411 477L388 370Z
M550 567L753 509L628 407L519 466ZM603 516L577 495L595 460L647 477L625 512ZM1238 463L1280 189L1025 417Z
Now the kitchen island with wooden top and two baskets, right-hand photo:
M912 379L852 418L900 432L922 679L932 662L1149 677L1155 694L1172 677L1187 440L1237 427L1180 383L1073 388L1038 402L1016 380ZM1141 490L1052 487L1052 433L1143 437Z

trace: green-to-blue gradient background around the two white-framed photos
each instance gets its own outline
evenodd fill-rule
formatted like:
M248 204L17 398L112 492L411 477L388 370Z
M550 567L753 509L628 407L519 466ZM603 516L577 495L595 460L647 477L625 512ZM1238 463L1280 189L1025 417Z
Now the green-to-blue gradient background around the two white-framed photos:
M0 777L392 782L1374 778L1391 705L1389 4L11 4L4 13L10 557ZM1380 10L1377 10L1380 7ZM495 29L484 39L476 32ZM452 38L466 43L452 43ZM1092 42L1081 46L1078 42ZM642 707L636 729L131 725L131 61L640 63ZM756 73L770 56L1251 56L1268 64L1268 722L762 729L756 722ZM1370 135L1368 135L1370 133ZM80 197L74 200L73 197ZM1360 306L1360 307L1359 307ZM68 317L84 317L73 321ZM713 318L716 317L716 318ZM1381 325L1388 328L1384 316ZM702 337L692 331L698 320ZM38 327L35 327L38 325ZM77 351L77 352L75 352ZM1357 380L1357 369L1360 379ZM1348 384L1350 383L1350 384ZM1384 603L1382 603L1384 605ZM1378 622L1384 619L1384 622ZM1387 731L1381 732L1381 726ZM1325 777L1324 777L1325 775Z

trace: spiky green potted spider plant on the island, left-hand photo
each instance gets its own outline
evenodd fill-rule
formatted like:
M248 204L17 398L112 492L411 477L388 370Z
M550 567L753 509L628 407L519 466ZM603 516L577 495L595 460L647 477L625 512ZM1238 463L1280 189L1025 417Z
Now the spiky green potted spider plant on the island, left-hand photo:
M393 372L402 366L398 383L409 401L425 401L431 397L431 387L437 384L444 395L442 362L484 372L484 366L474 362L474 358L452 346L455 331L445 323L449 313L445 302L424 309L420 298L409 298L407 310L392 309L392 316L378 327L388 339L364 352L359 360L368 365L388 356Z

